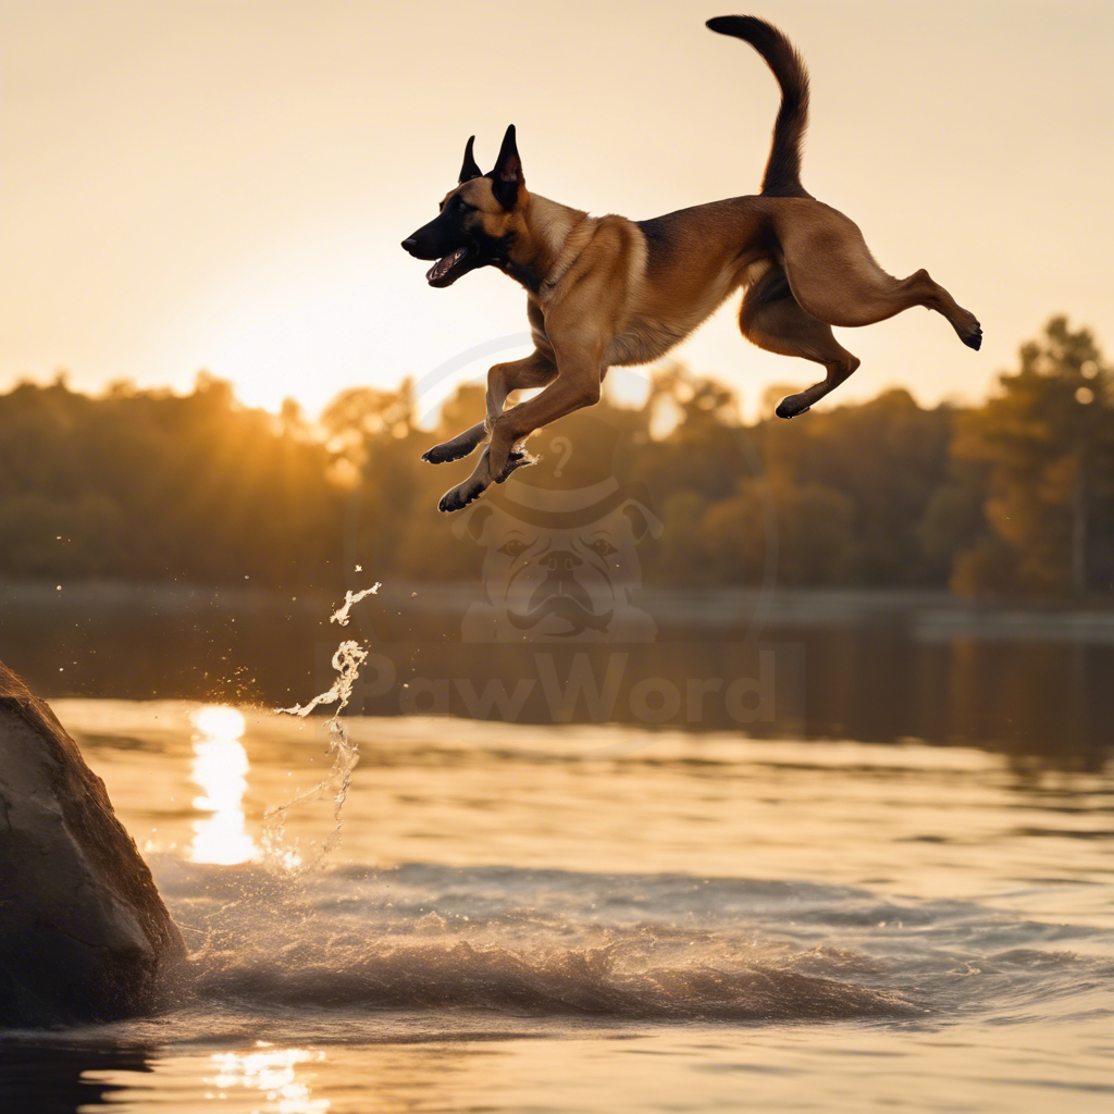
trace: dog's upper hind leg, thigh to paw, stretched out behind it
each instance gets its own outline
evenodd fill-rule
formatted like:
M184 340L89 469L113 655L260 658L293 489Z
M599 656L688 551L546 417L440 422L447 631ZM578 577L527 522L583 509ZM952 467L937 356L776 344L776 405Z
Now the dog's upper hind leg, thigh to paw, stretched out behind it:
M975 314L931 280L927 271L908 278L888 275L870 254L859 226L827 209L823 221L779 229L785 273L802 309L829 325L872 325L922 305L942 314L959 339L978 349L983 330Z

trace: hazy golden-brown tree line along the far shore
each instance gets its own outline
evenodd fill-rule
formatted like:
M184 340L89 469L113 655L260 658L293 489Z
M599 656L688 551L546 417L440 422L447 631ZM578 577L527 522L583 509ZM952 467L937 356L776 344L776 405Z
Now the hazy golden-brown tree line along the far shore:
M1114 586L1111 374L1092 333L1055 317L977 407L890 390L745 423L729 387L671 365L642 407L605 395L539 438L566 437L585 482L645 492L664 524L646 584L754 584L772 561L783 585L1092 598ZM334 594L353 563L475 577L475 546L437 511L472 461L419 458L482 405L462 387L423 430L409 382L344 391L312 424L205 374L188 395L22 383L0 395L0 576L295 594Z

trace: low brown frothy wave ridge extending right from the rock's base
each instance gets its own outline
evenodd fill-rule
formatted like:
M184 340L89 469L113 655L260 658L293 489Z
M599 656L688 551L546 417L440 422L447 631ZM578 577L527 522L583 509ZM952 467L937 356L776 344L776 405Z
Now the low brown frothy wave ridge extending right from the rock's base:
M643 945L645 941L642 941ZM194 994L254 1007L476 1009L629 1020L834 1020L921 1010L899 995L772 966L705 961L641 966L603 947L511 949L467 940L338 942L203 951L189 960Z

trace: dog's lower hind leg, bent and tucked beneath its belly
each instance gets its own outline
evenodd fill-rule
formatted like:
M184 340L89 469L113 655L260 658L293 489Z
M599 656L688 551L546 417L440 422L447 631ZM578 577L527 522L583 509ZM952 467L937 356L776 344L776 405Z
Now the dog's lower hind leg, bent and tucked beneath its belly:
M827 374L798 394L781 400L779 418L803 414L813 402L836 390L859 367L859 358L832 335L831 326L805 313L790 292L785 273L772 267L747 292L739 312L743 335L778 355L797 355L822 363Z

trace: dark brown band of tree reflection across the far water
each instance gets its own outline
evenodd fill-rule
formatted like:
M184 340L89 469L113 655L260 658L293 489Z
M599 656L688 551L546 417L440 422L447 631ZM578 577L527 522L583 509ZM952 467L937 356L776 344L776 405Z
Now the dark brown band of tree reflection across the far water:
M397 716L417 691L405 685L422 677L434 687L448 683L450 712L477 714L461 685L482 694L497 678L512 693L526 676L532 691L516 719L551 722L531 653L460 641L476 586L417 588L389 584L373 608L365 603L353 612L352 636L390 665L393 683L385 685L382 671L369 664L367 686L350 711ZM604 659L593 666L597 683L610 649L627 654L625 683L665 677L686 692L707 678L759 676L755 653L773 648L773 717L746 724L751 735L958 743L1089 771L1110 753L1111 613L1057 617L980 609L946 596L786 590L768 600L760 641L749 647L743 634L754 600L745 593L666 595L643 602L657 641L602 645ZM53 585L0 584L0 659L48 698L284 707L334 680L335 626L328 615L335 603L227 588L67 585L58 593ZM629 712L629 702L619 700L605 719L647 722ZM698 722L682 716L674 725L737 732L740 724L723 713L724 701L709 698ZM592 717L578 705L574 719Z

